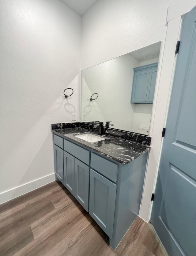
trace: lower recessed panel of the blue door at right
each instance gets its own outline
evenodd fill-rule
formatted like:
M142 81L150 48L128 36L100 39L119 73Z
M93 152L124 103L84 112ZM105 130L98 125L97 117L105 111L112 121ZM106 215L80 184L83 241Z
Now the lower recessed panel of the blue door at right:
M183 191L179 196L179 191ZM195 246L195 211L190 211L196 205L196 184L181 170L170 164L170 175L167 182L165 197L160 208L161 221L175 234L176 242L188 254L189 248ZM175 209L175 211L174 211ZM179 225L180 224L180 225ZM188 232L188 234L184 232ZM185 236L188 235L188 239Z

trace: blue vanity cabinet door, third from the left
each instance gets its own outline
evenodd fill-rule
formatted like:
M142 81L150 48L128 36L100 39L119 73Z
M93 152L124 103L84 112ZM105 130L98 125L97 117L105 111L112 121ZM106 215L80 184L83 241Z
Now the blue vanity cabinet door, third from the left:
M89 166L75 158L75 198L89 211Z

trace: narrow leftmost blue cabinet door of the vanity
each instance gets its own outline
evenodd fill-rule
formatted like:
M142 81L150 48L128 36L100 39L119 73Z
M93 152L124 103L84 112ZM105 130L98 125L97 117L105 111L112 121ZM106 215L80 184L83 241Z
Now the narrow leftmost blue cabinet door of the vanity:
M58 146L54 145L55 153L55 175L64 184L63 174L63 150Z

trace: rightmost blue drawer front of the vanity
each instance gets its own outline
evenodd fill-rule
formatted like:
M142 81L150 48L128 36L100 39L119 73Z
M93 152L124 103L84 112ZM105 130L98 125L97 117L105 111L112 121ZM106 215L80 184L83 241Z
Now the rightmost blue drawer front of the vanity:
M118 165L107 159L91 153L91 168L103 174L108 179L116 182L118 174Z

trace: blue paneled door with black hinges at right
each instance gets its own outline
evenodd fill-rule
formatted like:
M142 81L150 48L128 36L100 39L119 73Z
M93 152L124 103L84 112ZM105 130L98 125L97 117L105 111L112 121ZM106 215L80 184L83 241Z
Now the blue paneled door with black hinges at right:
M169 256L196 255L196 7L183 20L151 222Z

